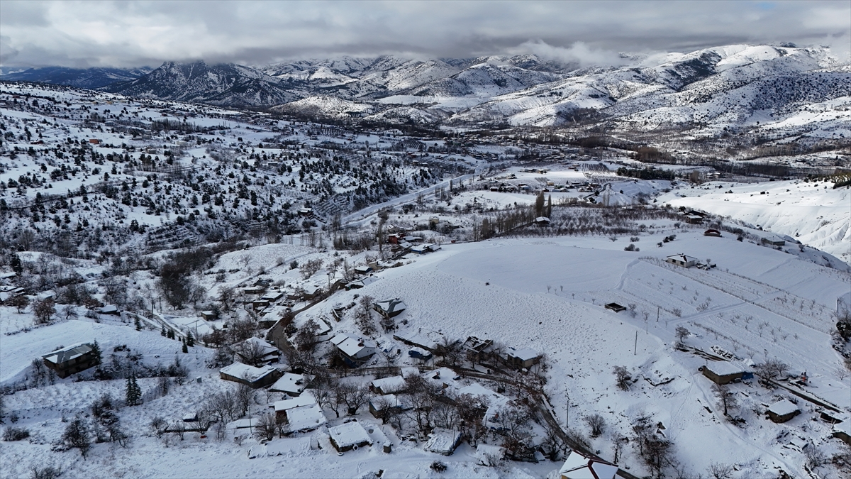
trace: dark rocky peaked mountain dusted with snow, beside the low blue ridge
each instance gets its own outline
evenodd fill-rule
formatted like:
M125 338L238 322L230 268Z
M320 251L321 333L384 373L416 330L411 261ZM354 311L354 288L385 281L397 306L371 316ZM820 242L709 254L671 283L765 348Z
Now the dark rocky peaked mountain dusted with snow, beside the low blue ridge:
M264 107L300 98L294 82L248 66L168 61L144 77L111 84L105 90L159 100L194 101L232 107Z

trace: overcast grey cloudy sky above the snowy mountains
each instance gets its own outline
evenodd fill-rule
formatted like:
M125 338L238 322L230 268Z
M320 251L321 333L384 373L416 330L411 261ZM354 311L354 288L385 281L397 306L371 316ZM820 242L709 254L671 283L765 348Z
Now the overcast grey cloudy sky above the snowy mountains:
M830 44L848 61L851 1L0 2L6 68L523 52L588 65L780 42Z

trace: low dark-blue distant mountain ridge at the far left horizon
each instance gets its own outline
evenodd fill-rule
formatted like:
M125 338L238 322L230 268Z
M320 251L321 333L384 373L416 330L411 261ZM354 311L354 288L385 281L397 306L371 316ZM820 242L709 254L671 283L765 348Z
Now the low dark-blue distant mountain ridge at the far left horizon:
M77 88L96 89L116 82L127 82L151 72L151 68L66 68L44 66L7 73L0 79L40 84L60 84Z

